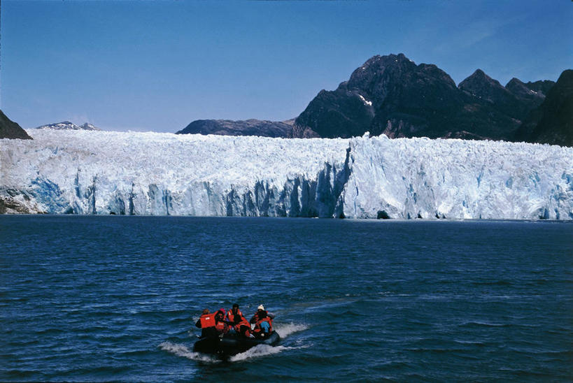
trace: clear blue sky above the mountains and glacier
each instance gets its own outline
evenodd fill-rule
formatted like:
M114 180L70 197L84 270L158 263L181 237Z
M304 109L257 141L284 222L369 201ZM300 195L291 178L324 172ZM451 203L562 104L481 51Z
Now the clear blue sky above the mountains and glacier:
M4 0L1 109L24 128L287 120L401 52L456 83L476 68L502 85L557 80L573 67L572 20L569 0Z

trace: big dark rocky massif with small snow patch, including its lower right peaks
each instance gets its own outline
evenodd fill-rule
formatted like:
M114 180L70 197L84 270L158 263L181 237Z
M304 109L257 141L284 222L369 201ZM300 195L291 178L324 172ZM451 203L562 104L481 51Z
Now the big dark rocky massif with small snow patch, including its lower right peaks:
M549 84L535 83L544 85ZM294 131L295 136L313 131L321 137L350 137L370 131L391 138L508 140L542 98L518 96L481 70L456 87L435 65L416 65L402 54L375 56L336 90L320 91L295 120Z

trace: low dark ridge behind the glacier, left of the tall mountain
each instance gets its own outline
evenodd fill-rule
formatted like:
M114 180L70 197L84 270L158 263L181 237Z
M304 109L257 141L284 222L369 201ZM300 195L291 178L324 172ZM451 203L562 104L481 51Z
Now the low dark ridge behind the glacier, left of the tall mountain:
M221 136L292 137L293 120L195 120L176 134L219 134Z

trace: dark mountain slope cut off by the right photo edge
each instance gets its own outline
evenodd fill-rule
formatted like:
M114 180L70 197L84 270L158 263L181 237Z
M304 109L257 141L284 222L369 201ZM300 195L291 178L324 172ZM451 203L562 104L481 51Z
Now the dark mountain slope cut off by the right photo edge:
M573 70L567 69L516 131L515 140L573 146Z

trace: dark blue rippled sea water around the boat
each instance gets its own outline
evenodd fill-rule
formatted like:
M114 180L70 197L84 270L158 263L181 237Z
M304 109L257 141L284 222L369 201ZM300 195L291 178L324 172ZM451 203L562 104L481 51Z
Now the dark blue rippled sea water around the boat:
M573 224L0 216L1 381L573 380ZM203 308L283 340L195 354Z

